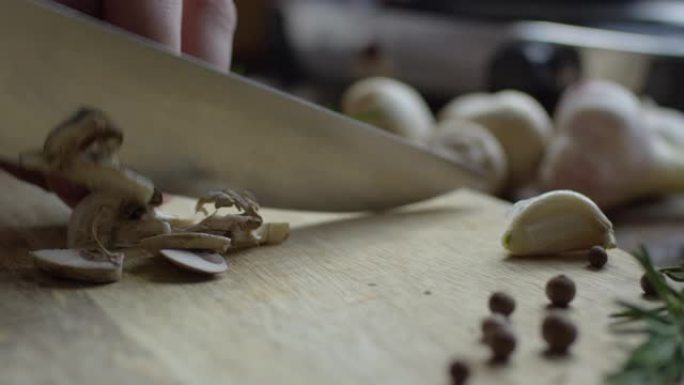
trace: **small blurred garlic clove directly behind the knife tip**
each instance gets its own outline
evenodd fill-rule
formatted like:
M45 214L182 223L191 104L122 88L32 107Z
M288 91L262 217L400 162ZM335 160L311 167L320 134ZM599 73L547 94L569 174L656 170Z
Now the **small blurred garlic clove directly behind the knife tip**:
M437 124L426 146L480 171L485 179L484 191L501 192L508 177L508 160L499 141L486 128L464 120L445 120Z

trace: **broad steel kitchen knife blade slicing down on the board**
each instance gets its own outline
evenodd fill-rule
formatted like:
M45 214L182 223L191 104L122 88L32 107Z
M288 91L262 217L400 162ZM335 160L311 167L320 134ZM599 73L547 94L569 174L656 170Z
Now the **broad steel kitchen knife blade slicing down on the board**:
M270 207L363 211L482 183L464 164L57 4L4 0L0 52L4 156L90 105L124 128L124 161L172 193L233 187Z

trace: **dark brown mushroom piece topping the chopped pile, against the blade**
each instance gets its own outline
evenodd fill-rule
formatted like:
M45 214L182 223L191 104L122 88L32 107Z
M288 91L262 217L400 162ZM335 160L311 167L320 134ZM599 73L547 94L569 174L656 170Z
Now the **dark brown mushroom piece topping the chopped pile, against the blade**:
M50 132L43 153L57 167L87 150L90 160L111 162L122 142L123 133L109 123L102 111L81 108Z

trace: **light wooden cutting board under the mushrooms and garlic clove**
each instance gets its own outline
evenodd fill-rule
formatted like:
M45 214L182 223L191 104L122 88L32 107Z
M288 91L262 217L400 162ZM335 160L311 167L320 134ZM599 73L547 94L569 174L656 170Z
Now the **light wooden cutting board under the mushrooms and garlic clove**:
M2 384L446 384L454 357L472 362L472 384L599 384L634 342L608 332L615 299L640 294L626 253L600 272L582 257L508 257L509 205L469 191L379 215L264 210L291 238L231 255L219 278L139 255L104 286L33 269L27 250L63 245L69 210L5 174L0 192ZM549 360L544 284L559 273L578 285L580 337ZM494 290L518 303L501 367L478 343Z

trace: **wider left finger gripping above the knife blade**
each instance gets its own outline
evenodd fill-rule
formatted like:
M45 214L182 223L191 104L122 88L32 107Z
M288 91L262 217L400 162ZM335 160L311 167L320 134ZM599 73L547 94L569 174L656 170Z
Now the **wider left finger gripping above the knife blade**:
M180 52L183 0L103 0L108 22Z

